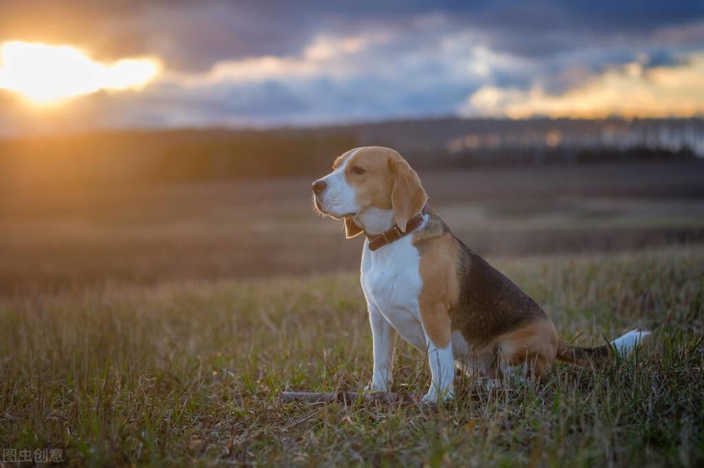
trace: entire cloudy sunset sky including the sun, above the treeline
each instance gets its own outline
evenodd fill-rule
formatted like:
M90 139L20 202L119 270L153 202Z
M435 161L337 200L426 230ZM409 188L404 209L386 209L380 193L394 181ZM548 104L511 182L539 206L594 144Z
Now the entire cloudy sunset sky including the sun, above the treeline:
M0 3L0 134L703 114L704 1Z

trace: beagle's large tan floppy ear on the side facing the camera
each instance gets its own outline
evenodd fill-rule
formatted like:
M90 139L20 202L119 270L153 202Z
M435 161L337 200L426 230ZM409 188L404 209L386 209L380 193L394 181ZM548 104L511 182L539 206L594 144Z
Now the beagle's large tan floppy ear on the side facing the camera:
M420 184L420 178L403 160L389 160L391 174L394 177L394 189L391 191L391 206L394 208L394 221L401 232L406 232L406 224L425 206L428 196Z

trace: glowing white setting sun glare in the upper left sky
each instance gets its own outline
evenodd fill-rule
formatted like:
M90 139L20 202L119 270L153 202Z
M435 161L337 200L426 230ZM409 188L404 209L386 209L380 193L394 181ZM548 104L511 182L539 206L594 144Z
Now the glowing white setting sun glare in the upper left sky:
M0 45L0 89L15 91L37 104L65 101L101 89L139 89L158 75L151 58L105 64L73 46L21 41Z

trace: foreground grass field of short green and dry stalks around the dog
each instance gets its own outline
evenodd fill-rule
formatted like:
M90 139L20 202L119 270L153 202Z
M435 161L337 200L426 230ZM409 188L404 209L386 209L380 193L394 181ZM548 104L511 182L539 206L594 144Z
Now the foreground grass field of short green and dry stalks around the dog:
M634 358L409 405L277 403L372 367L354 273L103 285L0 298L0 446L70 464L702 466L704 246L490 258L582 345L658 328ZM422 355L395 388L422 396Z

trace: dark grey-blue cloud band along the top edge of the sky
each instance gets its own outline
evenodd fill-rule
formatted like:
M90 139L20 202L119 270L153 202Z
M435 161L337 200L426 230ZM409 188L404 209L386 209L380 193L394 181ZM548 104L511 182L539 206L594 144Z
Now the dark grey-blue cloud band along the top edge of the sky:
M560 53L651 34L704 18L702 1L4 1L0 40L78 44L106 58L154 54L172 68L299 53L321 32L444 15L446 27L484 32L493 49ZM704 37L700 37L704 40Z

